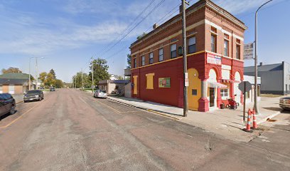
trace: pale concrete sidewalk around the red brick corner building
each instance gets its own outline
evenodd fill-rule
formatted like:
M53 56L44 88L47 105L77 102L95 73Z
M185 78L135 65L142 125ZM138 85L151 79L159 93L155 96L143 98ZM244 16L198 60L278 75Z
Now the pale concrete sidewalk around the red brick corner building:
M149 101L143 101L134 98L114 97L109 96L109 99L118 101L119 103L125 103L127 105L133 105L137 108L143 108L146 110L152 110L155 113L161 113L162 115L168 115L178 119L182 123L188 123L190 125L197 126L208 130L209 132L223 137L242 142L249 142L252 138L256 137L262 131L254 131L254 133L246 133L242 131L245 128L243 122L242 106L237 110L223 109L214 110L207 113L188 111L188 117L183 118L183 109L176 108L169 105L162 105L159 103L153 103ZM247 104L246 109L252 108L252 104ZM268 118L274 118L274 116L280 113L279 98L262 98L259 102L259 115L257 115L257 123L261 124Z

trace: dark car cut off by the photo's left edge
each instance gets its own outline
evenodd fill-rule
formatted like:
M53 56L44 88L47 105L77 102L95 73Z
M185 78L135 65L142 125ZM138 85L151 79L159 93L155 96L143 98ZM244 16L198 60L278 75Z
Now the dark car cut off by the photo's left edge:
M9 93L0 94L0 116L10 113L13 115L15 113L15 100Z

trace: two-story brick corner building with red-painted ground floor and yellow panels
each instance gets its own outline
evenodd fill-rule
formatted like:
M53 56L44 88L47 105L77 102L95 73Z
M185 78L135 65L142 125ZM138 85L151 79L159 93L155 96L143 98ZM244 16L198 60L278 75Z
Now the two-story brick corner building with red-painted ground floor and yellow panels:
M183 107L181 14L131 44L132 96ZM186 9L188 108L208 111L222 100L242 102L243 43L247 27L225 9L200 0Z

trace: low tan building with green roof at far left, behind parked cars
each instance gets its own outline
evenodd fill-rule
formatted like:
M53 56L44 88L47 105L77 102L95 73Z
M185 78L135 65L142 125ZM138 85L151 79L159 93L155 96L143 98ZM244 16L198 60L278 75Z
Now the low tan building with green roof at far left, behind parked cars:
M23 94L29 89L26 73L4 73L0 75L0 93Z

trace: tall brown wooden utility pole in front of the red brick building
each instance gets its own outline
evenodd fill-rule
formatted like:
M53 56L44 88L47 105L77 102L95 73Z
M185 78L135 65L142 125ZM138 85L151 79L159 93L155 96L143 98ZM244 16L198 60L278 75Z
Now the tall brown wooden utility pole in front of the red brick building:
M188 113L188 71L187 71L187 57L186 57L186 0L182 1L182 35L183 35L183 117L187 116ZM188 4L189 5L189 4Z

